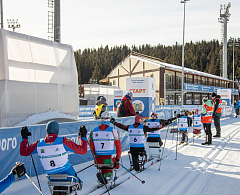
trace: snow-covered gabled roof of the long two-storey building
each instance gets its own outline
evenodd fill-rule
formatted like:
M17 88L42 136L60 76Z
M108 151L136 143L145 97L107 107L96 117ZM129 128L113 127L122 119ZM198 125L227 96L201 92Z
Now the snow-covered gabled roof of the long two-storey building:
M144 55L144 54L140 54L140 53L137 53L137 52L132 52L130 53L127 57L125 57L110 73L107 77L111 77L112 73L117 70L120 66L122 66L124 64L124 62L128 59L128 58L135 58L135 59L138 59L138 60L141 60L141 61L145 61L145 62L148 62L148 63L151 63L157 67L164 67L164 68L167 68L167 69L170 69L170 70L175 70L175 71L180 71L182 72L182 66L178 66L178 65L174 65L174 64L169 64L169 63L166 63L164 62L163 60L159 59L159 58L155 58L155 57L151 57L151 56L147 56L147 55ZM185 73L192 73L192 74L196 74L196 75L201 75L201 76L206 76L206 77L211 77L211 78L216 78L216 79L221 79L221 80L226 80L226 81L229 81L229 79L226 79L226 78L223 78L223 77L220 77L220 76L216 76L216 75L213 75L213 74L209 74L209 73L205 73L205 72L201 72L201 71L198 71L198 70L194 70L194 69L191 69L191 68L186 68L184 67L184 72Z

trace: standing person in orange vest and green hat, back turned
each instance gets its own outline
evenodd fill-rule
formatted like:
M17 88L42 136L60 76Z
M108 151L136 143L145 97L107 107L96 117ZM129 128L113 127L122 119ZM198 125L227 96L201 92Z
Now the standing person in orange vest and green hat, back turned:
M202 113L201 113L201 121L203 123L203 128L206 133L206 141L202 143L202 145L211 145L212 144L212 131L211 131L211 124L212 124L212 103L208 99L207 96L203 98L203 105L202 105Z

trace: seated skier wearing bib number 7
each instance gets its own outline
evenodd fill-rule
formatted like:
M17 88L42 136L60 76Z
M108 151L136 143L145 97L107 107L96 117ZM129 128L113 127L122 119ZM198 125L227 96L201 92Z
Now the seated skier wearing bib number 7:
M112 164L115 169L118 169L122 147L118 131L110 127L110 118L107 112L101 114L101 125L90 132L89 144L96 164ZM113 157L114 145L116 157ZM107 184L107 177L111 176L111 170L102 169L96 176L102 184Z

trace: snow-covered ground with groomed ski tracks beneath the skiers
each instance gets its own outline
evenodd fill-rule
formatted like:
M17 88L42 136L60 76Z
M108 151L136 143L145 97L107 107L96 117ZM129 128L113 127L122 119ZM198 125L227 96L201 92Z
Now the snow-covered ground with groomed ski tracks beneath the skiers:
M138 173L136 176L145 181L142 184L138 179L122 167L119 169L117 182L130 177L126 182L109 191L111 195L122 194L240 194L240 118L224 118L221 120L222 137L213 138L210 146L201 145L205 142L205 133L202 137L195 138L193 144L192 133L190 133L189 145L177 147L176 159L176 134L167 134L167 142L163 156L167 156L161 162L149 166L152 161L146 163L148 169ZM213 135L215 128L212 124ZM192 130L190 130L192 132ZM164 141L167 129L162 130L161 137ZM148 148L146 148L148 152ZM162 152L161 152L162 154ZM155 161L154 161L155 162ZM76 165L76 171L91 165L93 161ZM120 161L129 168L127 152L123 152ZM96 168L94 166L79 173L83 180L83 190L78 194L88 194L97 186ZM133 171L133 173L135 173ZM50 194L46 175L40 177L41 187L44 194ZM36 182L36 178L32 178ZM37 184L37 182L36 182ZM94 191L93 195L105 192L105 187ZM28 195L39 194L28 179L14 182L4 195Z

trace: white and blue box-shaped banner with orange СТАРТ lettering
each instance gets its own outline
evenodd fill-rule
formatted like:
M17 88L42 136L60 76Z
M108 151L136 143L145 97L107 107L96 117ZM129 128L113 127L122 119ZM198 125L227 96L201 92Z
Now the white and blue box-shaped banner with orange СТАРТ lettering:
M143 117L149 117L156 110L155 78L128 77L126 90L133 93L133 108Z

